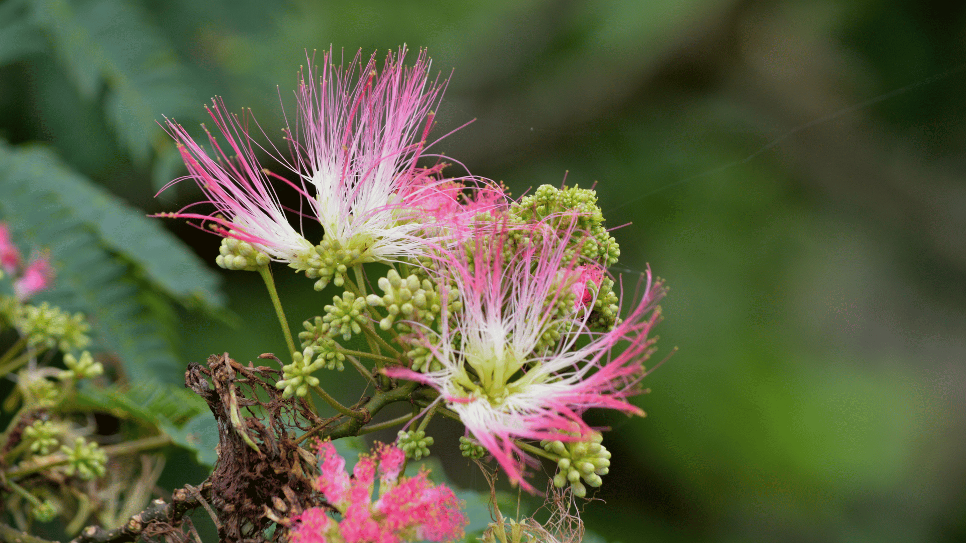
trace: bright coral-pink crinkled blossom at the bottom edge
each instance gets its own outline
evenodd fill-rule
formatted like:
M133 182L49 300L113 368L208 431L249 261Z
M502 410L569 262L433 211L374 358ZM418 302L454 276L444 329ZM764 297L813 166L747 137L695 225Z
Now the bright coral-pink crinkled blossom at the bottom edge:
M345 460L330 442L319 445L320 470L316 483L327 502L342 515L336 522L326 509L313 507L292 520L292 543L399 543L454 541L468 524L460 500L445 486L436 486L427 472L401 477L406 461L402 450L378 445L375 453L360 455L353 477ZM379 498L372 500L376 475Z

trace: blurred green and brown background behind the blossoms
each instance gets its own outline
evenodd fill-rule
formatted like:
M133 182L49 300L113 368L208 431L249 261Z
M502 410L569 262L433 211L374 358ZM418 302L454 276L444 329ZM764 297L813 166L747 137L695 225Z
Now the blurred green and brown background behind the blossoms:
M680 350L636 400L646 418L590 414L614 465L589 529L966 540L966 5L3 0L0 137L176 211L199 192L153 197L183 171L155 120L197 126L216 94L281 144L279 94L291 107L305 50L329 43L428 47L452 71L435 133L476 119L438 152L516 195L596 182L611 226L631 223L614 272L667 278L656 360ZM165 226L213 267L217 238ZM241 324L177 309L181 363L284 352L257 275L222 275ZM334 294L276 276L295 323ZM348 398L355 378L329 384ZM480 487L458 434L434 452ZM204 476L185 458L166 484Z

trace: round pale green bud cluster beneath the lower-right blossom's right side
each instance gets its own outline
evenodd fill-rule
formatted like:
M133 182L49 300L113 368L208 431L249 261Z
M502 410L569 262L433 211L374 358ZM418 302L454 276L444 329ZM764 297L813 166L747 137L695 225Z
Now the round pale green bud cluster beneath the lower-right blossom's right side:
M540 442L545 450L560 457L556 463L559 471L554 475L554 486L563 488L569 483L574 496L581 498L587 495L581 479L592 487L599 487L604 482L601 475L606 475L611 467L611 451L601 444L604 437L600 432L593 432L588 437L582 442Z

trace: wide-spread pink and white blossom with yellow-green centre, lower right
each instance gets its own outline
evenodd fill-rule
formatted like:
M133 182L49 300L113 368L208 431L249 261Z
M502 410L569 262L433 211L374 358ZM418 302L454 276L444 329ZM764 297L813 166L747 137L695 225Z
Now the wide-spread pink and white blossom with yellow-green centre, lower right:
M643 414L627 398L639 392L642 362L653 351L647 334L660 318L656 303L665 291L648 271L643 296L625 320L607 332L591 331L583 308L592 305L599 272L565 260L560 238L541 235L546 224L529 228L523 240L519 229L505 228L481 235L469 254L440 258L436 280L454 284L464 304L442 320L439 333L421 327L423 345L442 369L388 371L437 388L511 480L534 492L524 480L532 458L516 439L582 440L591 432L581 418L589 408ZM584 301L585 291L590 300ZM618 343L626 348L613 356Z

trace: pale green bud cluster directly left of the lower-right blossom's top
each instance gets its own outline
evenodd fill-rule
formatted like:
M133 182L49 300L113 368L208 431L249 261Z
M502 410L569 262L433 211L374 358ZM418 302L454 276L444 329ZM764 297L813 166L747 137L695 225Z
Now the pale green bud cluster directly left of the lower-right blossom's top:
M436 320L442 310L444 292L442 289L446 287L434 285L429 279L424 278L420 281L415 274L403 279L399 272L389 270L384 277L379 278L378 285L384 295L370 294L366 301L374 307L385 307L388 312L388 315L379 322L381 329L392 328L393 321L400 314L407 320L419 321L428 326ZM459 291L448 288L445 292L447 310L459 311L463 307ZM410 331L405 325L398 326L403 331Z

